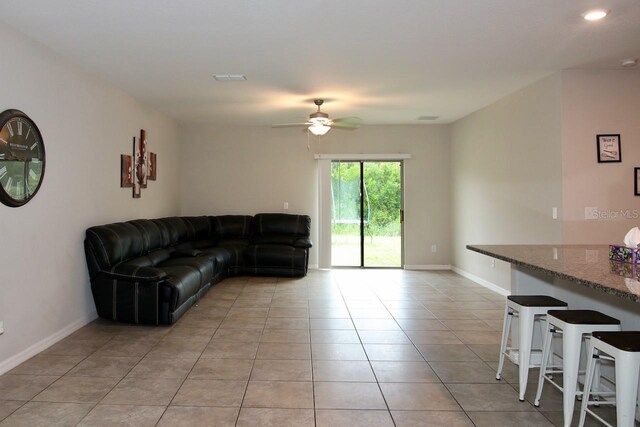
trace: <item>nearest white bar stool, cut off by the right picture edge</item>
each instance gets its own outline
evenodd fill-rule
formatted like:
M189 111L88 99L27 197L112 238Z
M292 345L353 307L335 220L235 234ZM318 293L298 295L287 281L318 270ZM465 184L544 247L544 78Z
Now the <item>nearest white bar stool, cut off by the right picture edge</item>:
M607 354L610 357L604 356ZM589 345L590 357L587 359L587 372L584 381L584 394L580 410L582 427L587 413L607 426L607 423L589 409L589 404L616 405L616 422L620 427L632 427L636 418L638 399L638 376L640 375L640 332L594 332ZM616 391L593 392L592 383L596 365L600 359L615 362ZM589 401L590 396L615 395L615 401Z

